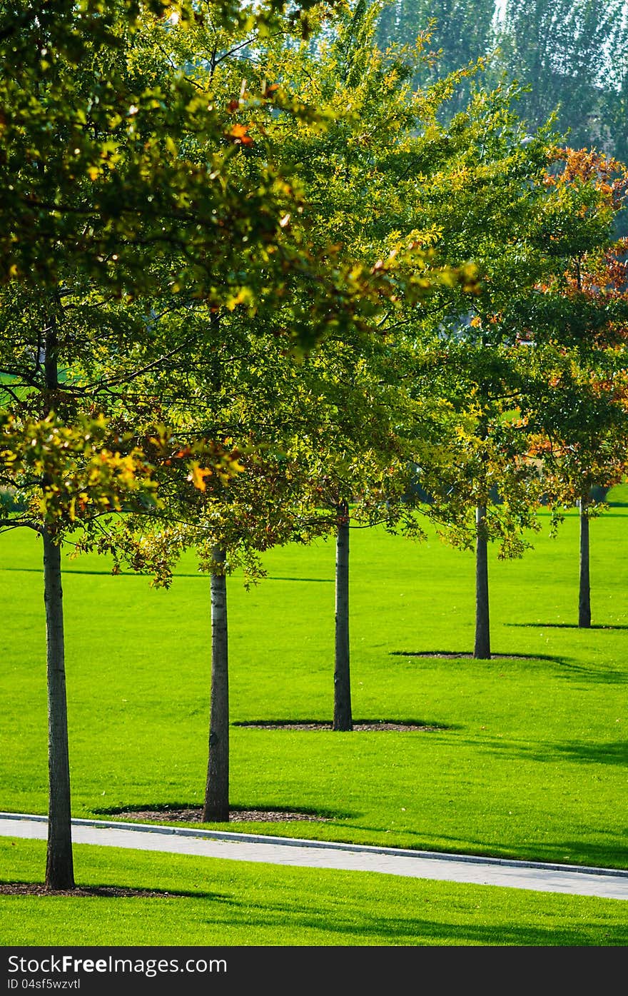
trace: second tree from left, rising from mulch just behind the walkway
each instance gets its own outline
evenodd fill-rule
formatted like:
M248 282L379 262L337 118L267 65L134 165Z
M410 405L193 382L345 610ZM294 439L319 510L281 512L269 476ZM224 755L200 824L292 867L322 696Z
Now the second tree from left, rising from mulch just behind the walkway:
M188 339L191 326L203 321L210 326L214 316L197 306L184 323ZM205 467L193 467L186 474L180 465L162 463L157 471L162 507L149 515L127 516L125 543L118 538L118 550L123 550L127 562L143 570L153 566L158 583L170 583L173 563L185 547L196 549L200 569L210 574L212 653L204 822L227 822L230 811L228 576L240 567L245 583L257 581L264 576L261 553L289 541L309 542L327 528L312 509L308 454L324 442L330 402L304 377L308 359L295 363L290 336L272 329L265 332L260 322L259 314L253 319L238 309L227 312L220 319L221 340L214 331L205 337L204 348L202 340L197 342L184 365L152 370L145 383L134 388L150 389L156 404L159 398L168 398L183 452L185 440L196 438L201 426L225 447L234 444L232 433L238 439L231 455L238 460L239 472L223 475L224 479ZM169 342L176 333L170 319Z

